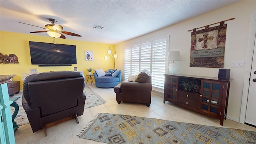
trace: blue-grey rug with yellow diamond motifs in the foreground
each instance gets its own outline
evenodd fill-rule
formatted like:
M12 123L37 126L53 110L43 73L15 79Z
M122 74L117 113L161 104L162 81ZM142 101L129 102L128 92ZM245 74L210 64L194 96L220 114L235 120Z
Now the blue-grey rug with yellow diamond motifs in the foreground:
M255 144L256 132L120 114L97 114L78 134L109 144Z

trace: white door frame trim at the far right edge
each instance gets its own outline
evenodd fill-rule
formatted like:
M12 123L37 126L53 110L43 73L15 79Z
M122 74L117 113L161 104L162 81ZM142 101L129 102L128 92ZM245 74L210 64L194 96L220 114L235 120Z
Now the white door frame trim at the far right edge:
M246 66L244 70L244 87L243 87L243 94L242 94L240 119L239 119L239 122L242 124L244 124L245 116L246 116L246 107L247 107L249 83L250 83L249 78L252 70L253 50L256 50L256 46L254 46L255 40L256 40L256 11L252 12L247 59L246 59Z

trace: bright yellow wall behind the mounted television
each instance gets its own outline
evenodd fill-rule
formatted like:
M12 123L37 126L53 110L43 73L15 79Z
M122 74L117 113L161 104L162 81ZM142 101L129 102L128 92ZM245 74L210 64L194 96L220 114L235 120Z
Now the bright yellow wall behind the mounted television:
M0 75L16 74L13 80L20 81L20 89L22 90L22 77L24 74L29 73L30 68L37 68L38 72L70 70L73 71L74 67L78 67L78 71L83 71L84 75L88 74L87 68L97 69L114 68L113 61L109 58L104 60L108 48L114 52L114 45L100 44L94 42L84 42L78 40L68 40L62 38L55 38L57 44L70 44L76 45L76 60L77 64L72 66L46 66L39 67L32 65L30 60L29 41L34 42L47 42L52 43L53 38L49 36L36 36L35 34L20 34L14 32L0 31L0 52L5 55L16 54L20 64L0 64ZM93 51L93 60L85 60L85 51ZM94 72L94 71L92 71ZM87 80L86 76L86 80ZM94 78L92 78L94 80ZM88 80L90 82L90 80Z

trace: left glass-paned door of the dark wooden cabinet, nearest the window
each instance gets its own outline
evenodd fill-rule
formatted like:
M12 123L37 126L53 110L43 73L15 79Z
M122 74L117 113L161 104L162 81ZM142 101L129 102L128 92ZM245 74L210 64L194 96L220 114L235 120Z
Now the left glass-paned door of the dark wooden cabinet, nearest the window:
M177 85L178 78L175 76L168 76L166 78L166 99L176 102L177 101Z

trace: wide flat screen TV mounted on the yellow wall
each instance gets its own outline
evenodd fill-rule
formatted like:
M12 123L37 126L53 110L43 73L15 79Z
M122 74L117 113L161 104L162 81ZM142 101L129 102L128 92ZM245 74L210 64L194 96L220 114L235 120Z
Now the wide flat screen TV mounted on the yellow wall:
M39 66L71 66L76 64L76 46L29 42L31 64Z

